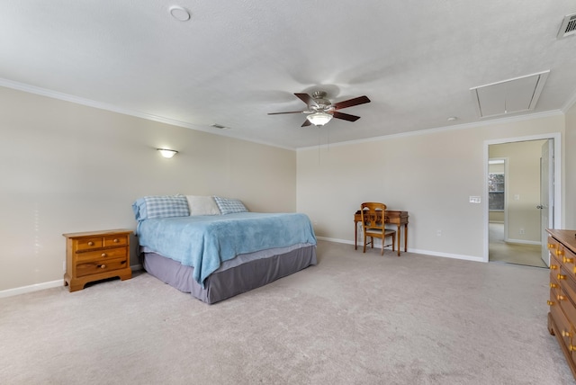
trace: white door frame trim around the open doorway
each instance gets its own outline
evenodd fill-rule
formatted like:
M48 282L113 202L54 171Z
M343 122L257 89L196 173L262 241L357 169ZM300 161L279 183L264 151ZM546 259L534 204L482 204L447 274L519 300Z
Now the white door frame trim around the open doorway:
M560 132L550 133L550 134L540 134L540 135L530 135L527 137L515 137L515 138L504 138L504 139L491 139L484 140L483 153L484 153L484 181L482 190L482 220L484 228L483 236L483 253L482 262L489 261L489 207L488 207L488 174L489 167L488 161L489 148L491 145L504 144L504 143L514 143L514 142L524 142L529 140L541 140L541 139L554 139L554 180L550 183L554 184L554 228L562 228L562 135Z

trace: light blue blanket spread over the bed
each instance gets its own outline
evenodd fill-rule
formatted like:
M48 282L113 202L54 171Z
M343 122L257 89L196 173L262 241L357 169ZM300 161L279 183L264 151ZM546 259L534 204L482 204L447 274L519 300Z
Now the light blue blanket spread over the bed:
M202 287L208 275L236 255L299 243L316 245L311 221L301 213L146 219L136 233L140 246L193 266L193 278Z

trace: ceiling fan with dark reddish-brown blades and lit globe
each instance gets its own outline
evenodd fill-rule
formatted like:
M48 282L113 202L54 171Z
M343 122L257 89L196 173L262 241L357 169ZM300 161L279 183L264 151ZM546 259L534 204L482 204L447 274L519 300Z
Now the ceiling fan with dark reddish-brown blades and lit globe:
M297 98L302 100L308 106L304 111L291 111L291 112L270 112L268 115L279 115L281 113L306 113L306 121L301 127L310 126L323 126L328 123L332 118L343 119L345 121L357 121L359 116L350 115L344 112L338 112L343 108L352 107L358 104L370 103L367 96L358 96L354 99L349 99L344 102L331 103L326 99L324 91L315 91L312 95L309 94L295 94Z

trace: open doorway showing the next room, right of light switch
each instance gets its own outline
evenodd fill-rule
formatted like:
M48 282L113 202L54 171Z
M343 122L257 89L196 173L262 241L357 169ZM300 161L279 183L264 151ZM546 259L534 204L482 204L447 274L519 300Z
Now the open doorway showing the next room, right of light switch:
M559 212L560 207L550 206L554 219L545 226L541 216L541 157L546 144L550 144L553 153L556 148L560 150L557 137L559 135L486 142L486 262L546 267L542 252L546 245L543 228L559 227L560 218L554 216L554 212ZM554 181L554 175L560 175L559 158L550 157L552 177L550 186L545 186L546 191L552 192L551 201L558 202L560 180Z

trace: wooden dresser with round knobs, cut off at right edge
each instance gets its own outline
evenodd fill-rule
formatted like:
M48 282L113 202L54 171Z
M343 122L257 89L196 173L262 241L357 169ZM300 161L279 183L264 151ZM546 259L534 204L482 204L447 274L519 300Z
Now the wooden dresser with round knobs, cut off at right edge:
M556 336L576 378L576 230L546 231L550 234L548 330Z

